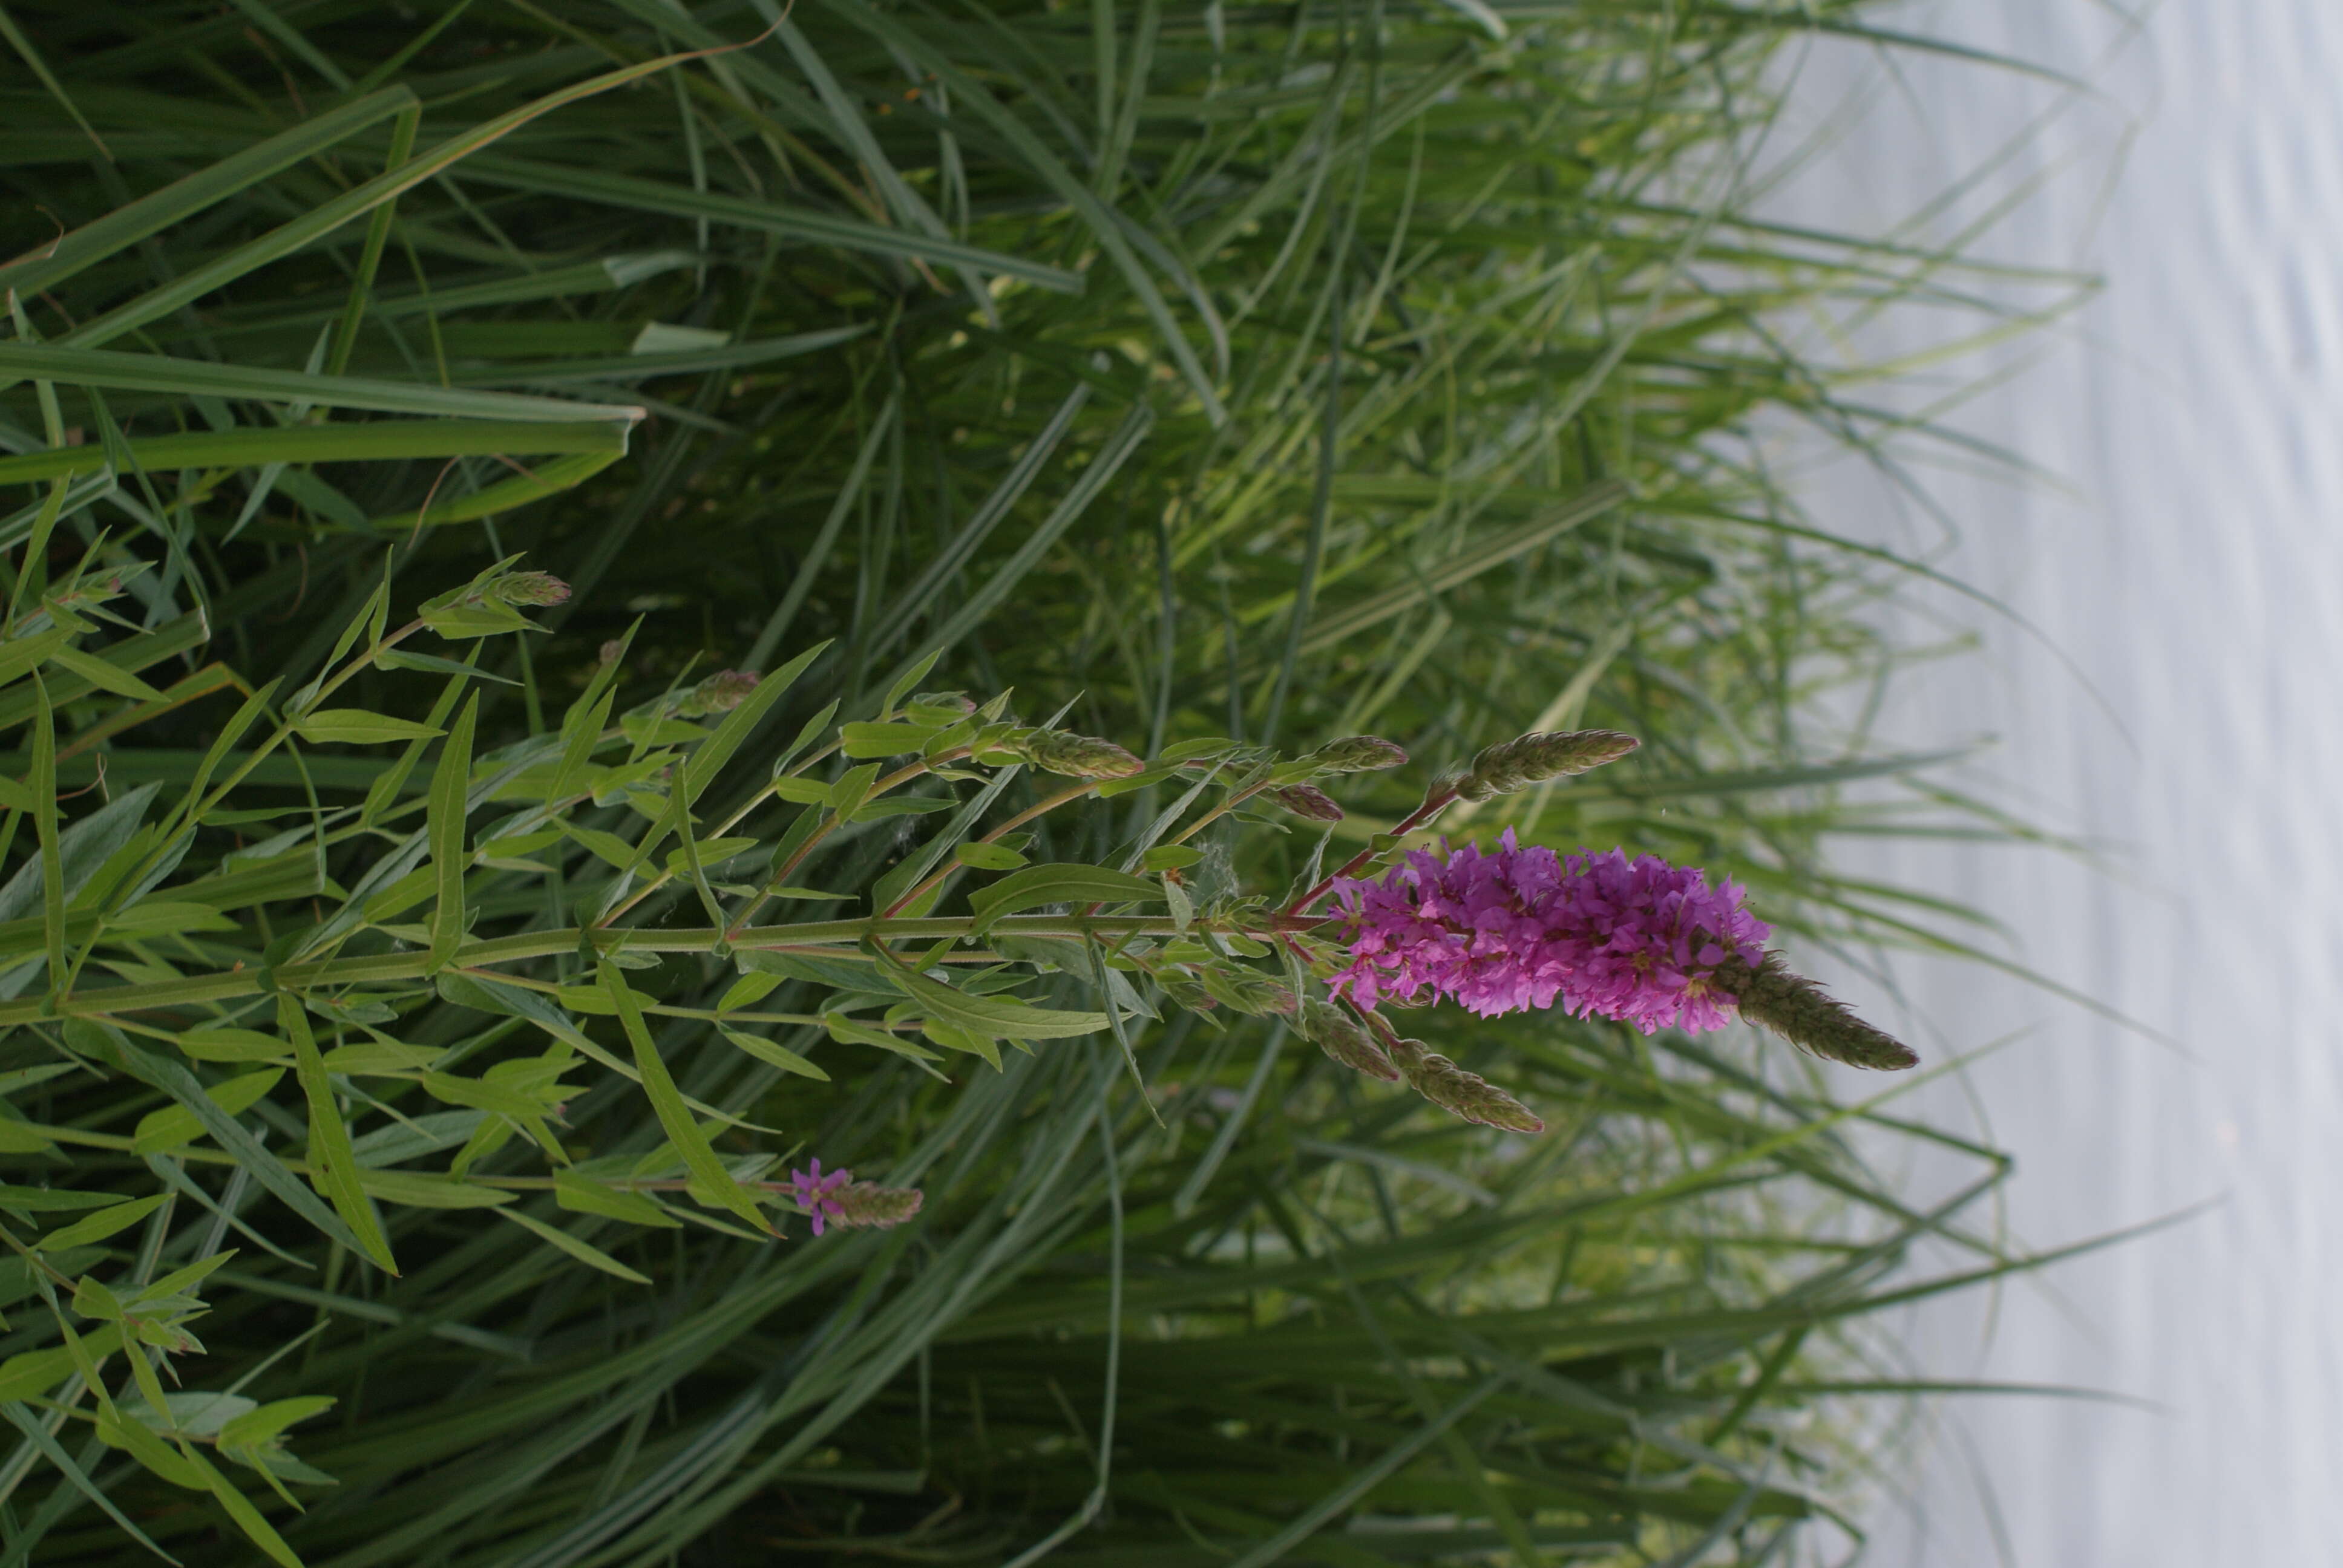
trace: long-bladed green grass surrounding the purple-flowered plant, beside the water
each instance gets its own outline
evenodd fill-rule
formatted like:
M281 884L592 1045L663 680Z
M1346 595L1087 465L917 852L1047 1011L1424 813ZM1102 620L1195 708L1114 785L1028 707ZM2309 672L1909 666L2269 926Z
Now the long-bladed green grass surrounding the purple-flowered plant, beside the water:
M316 677L387 563L405 614L525 551L576 595L555 635L480 645L511 682L483 687L483 750L546 729L637 621L626 701L827 640L769 750L832 698L869 715L930 654L928 684L1012 687L1146 752L1373 729L1439 764L1607 724L1645 738L1617 780L1453 830L1701 863L1842 952L1940 940L1952 912L1825 853L1989 827L1935 759L1872 755L1818 708L1893 675L1860 612L1910 567L1813 530L1760 457L1778 422L1905 434L1778 323L2003 326L2008 277L1748 216L1769 63L1870 16L14 0L9 588L145 563L94 647L162 689L52 675L61 788L103 766L66 825L185 790L237 687ZM422 717L433 687L391 668L349 701ZM199 860L302 851L312 811L380 780L366 755L272 759ZM1900 792L1849 806L1860 780ZM1345 797L1338 844L1406 788ZM1045 818L1036 858L1106 858L1167 804ZM914 844L862 832L822 886ZM349 877L368 846L316 853ZM1303 855L1232 827L1204 877L1277 888ZM265 961L330 914L312 893L237 909L206 952ZM562 923L522 870L466 898L476 935ZM679 1008L729 980L642 973ZM1860 1324L1942 1284L1898 1273L1917 1238L1977 1277L2017 1266L1975 1212L2001 1160L1739 1041L1434 1027L1551 1130L1371 1095L1258 1022L1143 1034L1141 1099L1087 1041L949 1088L822 1050L808 1085L670 1020L684 1092L783 1127L731 1151L916 1181L921 1221L766 1247L595 1230L635 1287L476 1212L401 1212L429 1261L389 1277L197 1163L255 1238L190 1198L110 1263L239 1247L180 1366L337 1399L293 1434L337 1484L269 1505L309 1563L1689 1566L1858 1535L1893 1383ZM497 1055L476 1031L452 1005L401 1020ZM61 1059L40 1029L0 1050ZM0 1155L9 1181L159 1191L103 1144L155 1092L23 1083L21 1118L98 1141ZM244 1125L307 1137L274 1102ZM621 1083L569 1125L595 1151L658 1137ZM1903 1139L1977 1181L1912 1212L1870 1158ZM0 1352L45 1324L16 1313ZM251 1561L213 1502L59 1432L89 1486L26 1437L0 1561L138 1559L91 1491L183 1561Z

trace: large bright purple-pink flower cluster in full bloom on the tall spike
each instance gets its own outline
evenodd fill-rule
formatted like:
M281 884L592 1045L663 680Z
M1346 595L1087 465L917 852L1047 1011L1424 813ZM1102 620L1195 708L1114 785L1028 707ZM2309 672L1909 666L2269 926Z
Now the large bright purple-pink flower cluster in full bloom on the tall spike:
M1495 1017L1551 1008L1635 1024L1717 1029L1734 998L1713 980L1727 956L1764 959L1767 923L1741 907L1741 886L1657 855L1628 860L1467 844L1415 851L1380 881L1343 879L1336 898L1352 961L1333 989L1359 1008L1427 989Z

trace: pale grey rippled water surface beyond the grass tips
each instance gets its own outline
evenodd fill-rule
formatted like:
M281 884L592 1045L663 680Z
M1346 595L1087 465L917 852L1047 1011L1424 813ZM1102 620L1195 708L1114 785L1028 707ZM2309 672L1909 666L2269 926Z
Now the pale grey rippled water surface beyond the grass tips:
M1928 1055L2031 1027L1924 1104L1982 1116L2017 1151L2008 1221L2036 1247L2216 1207L2048 1289L1905 1324L1938 1371L2123 1390L2170 1413L1959 1404L1917 1502L1874 1521L1872 1561L2343 1563L2343 0L2167 0L2137 35L2095 0L1886 19L2097 94L1818 47L1809 124L1851 82L1877 91L1781 211L1898 223L2064 103L1985 183L2043 178L1987 246L2109 277L2034 345L2041 363L1959 415L2076 495L1935 485L1963 532L1952 570L2041 638L1938 600L1987 654L1928 677L1893 727L1910 743L2001 736L1970 778L2127 853L2118 874L1999 848L1860 865L1999 914L2027 961L2184 1048L1910 963ZM1933 539L1860 473L1818 497L1835 527Z

